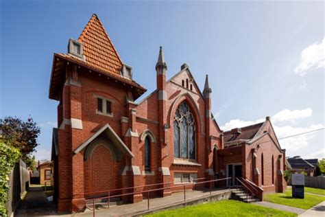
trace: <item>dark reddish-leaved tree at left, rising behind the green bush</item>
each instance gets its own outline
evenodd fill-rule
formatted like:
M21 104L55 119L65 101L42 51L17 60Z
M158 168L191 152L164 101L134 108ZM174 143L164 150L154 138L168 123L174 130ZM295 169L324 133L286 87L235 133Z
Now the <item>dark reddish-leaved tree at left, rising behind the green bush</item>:
M11 144L21 152L21 159L26 165L33 169L35 157L31 155L38 146L37 137L40 134L40 128L32 117L23 121L18 117L5 117L0 119L0 130L2 131L5 144Z

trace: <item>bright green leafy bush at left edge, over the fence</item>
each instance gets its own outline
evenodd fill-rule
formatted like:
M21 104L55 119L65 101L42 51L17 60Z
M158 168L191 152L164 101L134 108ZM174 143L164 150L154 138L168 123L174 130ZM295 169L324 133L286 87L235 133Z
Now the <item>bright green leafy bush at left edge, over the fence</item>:
M9 174L14 164L21 158L21 152L10 144L5 144L0 135L0 216L7 216L5 203L8 201Z

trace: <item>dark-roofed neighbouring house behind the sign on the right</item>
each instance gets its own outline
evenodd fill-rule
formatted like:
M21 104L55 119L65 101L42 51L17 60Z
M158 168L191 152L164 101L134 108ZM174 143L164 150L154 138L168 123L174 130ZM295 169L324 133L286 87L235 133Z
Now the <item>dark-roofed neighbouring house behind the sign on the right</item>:
M318 159L302 159L295 156L287 159L291 165L291 172L306 172L308 176L315 176L315 170L318 165Z

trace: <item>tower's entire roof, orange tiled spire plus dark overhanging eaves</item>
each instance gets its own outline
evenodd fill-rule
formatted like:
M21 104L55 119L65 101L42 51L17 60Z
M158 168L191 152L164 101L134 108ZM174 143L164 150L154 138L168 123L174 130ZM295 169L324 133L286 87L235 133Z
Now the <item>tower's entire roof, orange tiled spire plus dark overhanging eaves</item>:
M84 59L77 58L72 54L58 53L53 56L49 86L50 99L59 100L60 89L66 80L65 66L69 64L69 62L86 68L87 70L84 71L97 71L99 75L107 76L107 78L114 78L116 82L120 81L123 85L129 84L134 99L139 98L147 91L147 89L134 80L130 80L121 75L123 62L112 44L104 25L96 14L91 16L82 34L80 34L78 41L82 43Z

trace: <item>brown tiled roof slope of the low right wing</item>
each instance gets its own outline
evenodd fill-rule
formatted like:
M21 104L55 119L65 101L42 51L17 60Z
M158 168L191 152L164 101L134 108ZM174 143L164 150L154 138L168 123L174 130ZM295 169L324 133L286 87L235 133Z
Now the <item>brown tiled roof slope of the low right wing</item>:
M224 132L224 141L235 141L239 139L253 139L258 130L261 128L264 122L245 126L243 128L234 128L232 130ZM241 133L239 133L241 132Z

